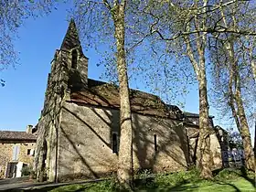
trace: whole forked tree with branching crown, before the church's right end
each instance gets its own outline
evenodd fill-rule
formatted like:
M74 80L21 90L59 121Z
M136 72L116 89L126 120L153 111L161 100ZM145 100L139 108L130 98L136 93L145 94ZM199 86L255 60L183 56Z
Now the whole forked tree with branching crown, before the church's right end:
M212 173L211 165L208 163L210 162L210 130L208 127L209 105L206 65L208 33L201 31L202 28L208 27L208 0L194 2L161 1L161 3L161 7L155 5L158 7L156 10L148 11L155 21L150 27L151 34L157 34L167 44L174 45L172 54L177 52L181 56L185 55L194 69L199 95L197 166L202 177L210 178Z

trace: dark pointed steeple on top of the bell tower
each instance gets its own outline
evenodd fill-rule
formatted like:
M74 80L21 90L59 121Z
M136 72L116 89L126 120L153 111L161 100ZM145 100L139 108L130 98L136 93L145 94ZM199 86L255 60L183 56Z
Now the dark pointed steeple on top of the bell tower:
M67 30L66 36L63 39L60 49L70 50L72 48L80 47L80 38L78 30L73 18L69 22L69 28Z

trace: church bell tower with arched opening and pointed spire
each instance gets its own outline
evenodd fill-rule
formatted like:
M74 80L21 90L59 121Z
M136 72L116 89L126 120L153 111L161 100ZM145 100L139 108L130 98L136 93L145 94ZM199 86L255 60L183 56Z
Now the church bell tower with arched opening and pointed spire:
M78 30L71 19L61 47L51 61L43 113L51 110L52 102L61 101L66 93L82 91L87 86L88 58L82 52Z

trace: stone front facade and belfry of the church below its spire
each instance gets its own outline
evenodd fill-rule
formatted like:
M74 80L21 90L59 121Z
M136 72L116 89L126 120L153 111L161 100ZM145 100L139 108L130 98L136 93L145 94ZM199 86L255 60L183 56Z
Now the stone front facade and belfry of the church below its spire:
M88 59L78 48L77 69L72 69L71 52L72 50L57 50L51 62L44 108L37 124L38 138L34 170L37 170L37 179L40 181L55 180L58 159L56 138L58 138L61 103L67 95L69 96L70 89L83 89L87 84ZM48 178L45 178L46 173Z

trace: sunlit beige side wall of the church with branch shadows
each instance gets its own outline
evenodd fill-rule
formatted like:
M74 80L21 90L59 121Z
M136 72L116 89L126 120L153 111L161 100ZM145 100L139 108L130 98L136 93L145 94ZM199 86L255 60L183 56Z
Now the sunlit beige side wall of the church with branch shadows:
M114 173L118 158L112 151L112 133L119 133L119 111L65 102L60 115L59 180ZM178 171L187 168L187 161L181 123L133 113L135 169Z

